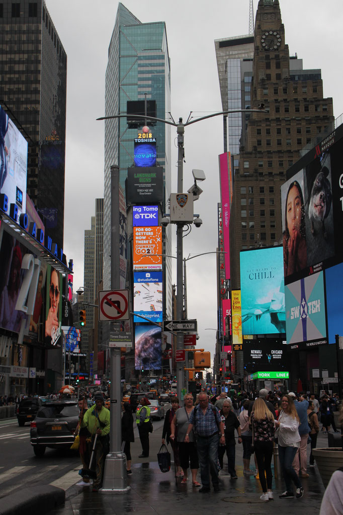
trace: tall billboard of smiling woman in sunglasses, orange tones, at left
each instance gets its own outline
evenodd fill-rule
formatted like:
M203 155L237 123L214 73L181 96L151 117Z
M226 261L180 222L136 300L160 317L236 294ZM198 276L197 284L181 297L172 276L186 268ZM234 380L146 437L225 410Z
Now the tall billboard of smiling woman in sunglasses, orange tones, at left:
M48 266L46 286L45 343L59 347L62 341L62 276L51 266Z

